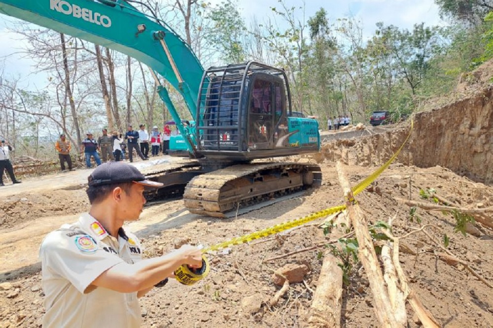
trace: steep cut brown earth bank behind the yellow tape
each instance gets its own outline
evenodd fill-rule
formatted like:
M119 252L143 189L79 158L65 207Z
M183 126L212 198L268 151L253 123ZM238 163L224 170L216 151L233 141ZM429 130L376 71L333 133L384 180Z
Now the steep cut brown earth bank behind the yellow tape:
M399 148L409 123L359 139L322 146L325 161L381 165ZM398 157L406 165L442 166L470 179L493 182L493 87L414 116L411 139Z

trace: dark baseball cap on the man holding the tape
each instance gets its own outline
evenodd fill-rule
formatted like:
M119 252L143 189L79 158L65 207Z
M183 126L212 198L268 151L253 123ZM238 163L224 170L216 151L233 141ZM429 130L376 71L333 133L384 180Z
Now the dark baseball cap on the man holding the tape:
M163 183L145 179L132 165L122 162L108 162L98 166L87 178L89 186L101 186L113 183L135 182L145 187L159 188Z

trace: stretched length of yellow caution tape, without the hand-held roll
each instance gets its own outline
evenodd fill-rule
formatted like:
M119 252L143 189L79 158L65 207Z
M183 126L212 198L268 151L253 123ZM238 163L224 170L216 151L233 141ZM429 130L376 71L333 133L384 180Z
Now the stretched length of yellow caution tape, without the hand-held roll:
M380 176L382 174L382 172L384 172L387 169L387 167L390 165L390 163L392 163L392 161L395 158L397 158L397 156L399 155L401 150L404 148L404 145L409 140L409 137L411 136L411 132L413 131L413 126L414 126L414 122L413 122L413 120L411 120L411 130L409 131L409 134L408 134L406 140L404 140L401 147L399 149L397 149L397 151L392 155L392 157L390 157L390 159L384 165L382 165L377 170L375 170L375 172L373 172L369 177L367 177L366 179L364 179L363 181L359 182L358 184L356 184L354 187L351 188L351 190L353 192L353 196L359 194L366 187L368 187L370 185L370 183L375 181L375 179L377 179L378 176ZM260 238L264 238L267 236L275 235L275 234L278 234L282 231L285 231L285 230L288 230L288 229L291 229L294 227L298 227L298 226L301 226L305 223L314 221L318 218L325 217L325 216L340 212L344 209L346 209L346 205L340 205L340 206L336 206L336 207L329 208L329 209L322 209L321 211L318 211L316 213L312 213L308 216L305 216L305 217L302 217L302 218L299 218L296 220L291 220L291 221L283 222L280 224L276 224L273 227L265 228L265 229L262 229L260 231L256 231L256 232L253 232L251 234L248 234L248 235L244 235L241 237L233 238L233 239L215 244L213 246L204 248L202 250L202 252L207 253L209 251L216 251L216 250L226 248L229 246L239 245L239 244L243 244L245 242L250 242L250 241L255 240L255 239L260 239Z

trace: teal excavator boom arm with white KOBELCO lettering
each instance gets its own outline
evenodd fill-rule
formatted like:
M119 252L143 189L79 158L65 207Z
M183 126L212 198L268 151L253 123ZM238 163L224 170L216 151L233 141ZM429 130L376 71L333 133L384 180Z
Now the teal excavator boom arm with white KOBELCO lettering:
M190 114L195 116L204 73L202 65L188 44L169 26L151 19L129 2L0 0L0 13L97 43L141 61L181 93ZM183 129L167 90L162 89L159 94L173 119L178 120L177 127ZM193 145L188 146L192 152Z

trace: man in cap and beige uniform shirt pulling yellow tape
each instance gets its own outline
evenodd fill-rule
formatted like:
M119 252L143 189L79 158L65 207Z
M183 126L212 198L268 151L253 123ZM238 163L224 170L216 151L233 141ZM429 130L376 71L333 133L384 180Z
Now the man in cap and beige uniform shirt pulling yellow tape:
M43 327L126 327L141 324L138 298L181 265L202 266L194 246L142 259L139 239L123 230L124 221L139 218L149 181L131 165L109 162L88 178L89 213L63 225L43 240Z

